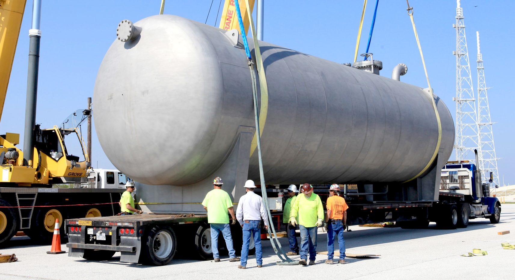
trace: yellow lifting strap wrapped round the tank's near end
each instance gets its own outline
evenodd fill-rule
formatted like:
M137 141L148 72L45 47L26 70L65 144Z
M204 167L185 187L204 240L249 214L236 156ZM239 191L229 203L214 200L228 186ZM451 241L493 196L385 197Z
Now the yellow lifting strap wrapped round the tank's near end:
M265 68L263 67L263 59L261 58L261 51L258 43L258 34L254 27L254 20L252 19L252 10L250 9L249 1L245 1L245 5L247 5L247 15L250 20L252 40L254 41L256 67L258 67L259 87L261 93L261 108L259 110L259 135L261 136L263 134L263 129L265 128L266 116L268 114L268 84L266 83ZM256 147L258 147L258 137L256 134L254 134L254 137L252 138L252 143L250 144L250 156L252 156L252 154L256 150Z

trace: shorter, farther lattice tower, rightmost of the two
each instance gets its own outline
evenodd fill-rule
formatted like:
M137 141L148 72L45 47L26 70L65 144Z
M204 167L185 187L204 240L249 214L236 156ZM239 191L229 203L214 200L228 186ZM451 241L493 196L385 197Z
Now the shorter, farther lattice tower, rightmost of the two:
M483 55L479 48L479 31L476 31L477 38L477 126L479 133L479 170L483 183L488 183L490 172L493 173L493 184L499 185L499 173L497 173L497 157L495 156L495 145L493 143L492 121L490 118L490 107L488 105L488 94L485 81L485 68L483 67Z

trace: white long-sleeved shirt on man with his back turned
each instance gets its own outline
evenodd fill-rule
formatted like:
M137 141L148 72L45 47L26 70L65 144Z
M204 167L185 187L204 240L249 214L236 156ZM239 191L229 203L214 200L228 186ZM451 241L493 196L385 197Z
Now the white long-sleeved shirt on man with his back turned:
M265 225L268 226L268 216L265 205L263 204L263 198L253 191L248 191L239 199L236 219L241 225L243 225L244 220L259 221L263 219Z

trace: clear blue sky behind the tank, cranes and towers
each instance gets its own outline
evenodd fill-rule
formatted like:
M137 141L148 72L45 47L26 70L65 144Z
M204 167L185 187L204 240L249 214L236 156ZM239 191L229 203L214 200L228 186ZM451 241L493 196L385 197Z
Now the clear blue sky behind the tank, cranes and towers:
M72 4L73 3L73 4ZM160 0L145 1L47 1L41 15L41 59L36 121L42 127L60 124L73 111L85 108L92 97L96 73L110 44L116 39L119 21L133 22L159 13ZM208 24L214 25L220 0L213 1ZM314 4L321 3L321 4ZM359 53L364 53L375 1L369 0ZM165 13L204 22L210 0L166 1ZM453 117L456 95L455 56L456 2L411 0L415 23L426 59L431 85L447 104ZM265 0L264 40L306 54L345 63L354 56L362 0L355 1L271 1ZM477 6L477 7L474 7ZM427 87L420 55L403 0L382 0L377 10L370 52L382 60L382 75L389 77L398 63L408 66L406 83ZM495 147L499 160L500 184L515 183L512 172L513 139L512 59L514 44L512 1L461 1L464 8L467 43L474 89L476 81L475 31L481 37ZM25 114L28 61L28 30L32 1L27 2L13 63L0 131L21 134ZM170 65L174 67L174 65ZM95 101L93 101L95 103ZM94 107L94 105L93 105ZM93 167L113 168L93 134ZM22 144L20 144L22 146ZM454 160L454 153L451 156Z

